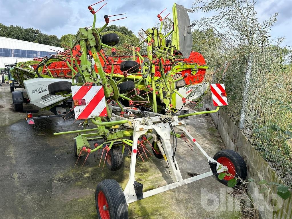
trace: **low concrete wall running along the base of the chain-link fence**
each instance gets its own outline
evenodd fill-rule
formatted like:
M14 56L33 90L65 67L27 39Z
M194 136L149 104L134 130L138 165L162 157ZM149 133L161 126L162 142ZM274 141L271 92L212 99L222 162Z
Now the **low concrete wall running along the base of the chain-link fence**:
M215 109L211 98L204 101L203 109L206 107L210 108L210 110ZM239 130L239 127L234 124L222 109L210 115L226 148L238 152L246 161L248 169L247 179L252 178L256 182L265 179L267 182L283 184L278 178L277 173L270 168L269 164L248 142L247 138ZM260 190L264 187L267 187L267 190L261 194ZM247 189L259 211L260 218L292 218L292 198L289 197L287 200L284 200L277 196L277 186L248 183Z

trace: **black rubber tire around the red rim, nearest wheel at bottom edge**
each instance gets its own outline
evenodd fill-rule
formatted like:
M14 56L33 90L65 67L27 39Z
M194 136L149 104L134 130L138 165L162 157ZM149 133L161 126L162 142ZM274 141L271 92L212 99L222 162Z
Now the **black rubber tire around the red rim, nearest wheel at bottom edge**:
M112 179L102 180L95 189L95 206L99 219L102 219L98 207L100 192L104 194L107 201L109 218L128 219L128 205L124 192L119 183Z

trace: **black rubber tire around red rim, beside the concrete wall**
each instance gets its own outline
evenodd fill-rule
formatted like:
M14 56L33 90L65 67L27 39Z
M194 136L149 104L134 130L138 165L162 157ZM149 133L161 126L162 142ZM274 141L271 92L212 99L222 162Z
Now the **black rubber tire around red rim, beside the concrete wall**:
M221 150L221 151L218 151L214 155L213 159L217 161L218 158L220 158L220 157L226 157L232 161L232 164L234 165L235 172L236 172L235 177L241 178L243 180L246 179L246 175L247 175L246 164L245 164L244 159L237 152L235 152L233 150L228 150L228 149ZM216 168L216 166L214 168ZM219 175L218 173L215 174L217 180L219 180L218 175ZM223 183L224 185L227 185L227 183L228 183L228 180L225 180L225 179L219 180L219 181L221 183ZM240 183L241 183L241 181L237 180L236 185L239 185Z

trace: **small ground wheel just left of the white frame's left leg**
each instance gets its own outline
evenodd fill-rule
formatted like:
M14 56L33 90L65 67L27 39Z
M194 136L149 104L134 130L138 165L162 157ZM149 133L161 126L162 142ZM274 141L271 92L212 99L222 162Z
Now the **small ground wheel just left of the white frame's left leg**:
M105 160L107 168L111 171L117 171L122 168L124 164L124 157L120 147L112 147L107 154Z

